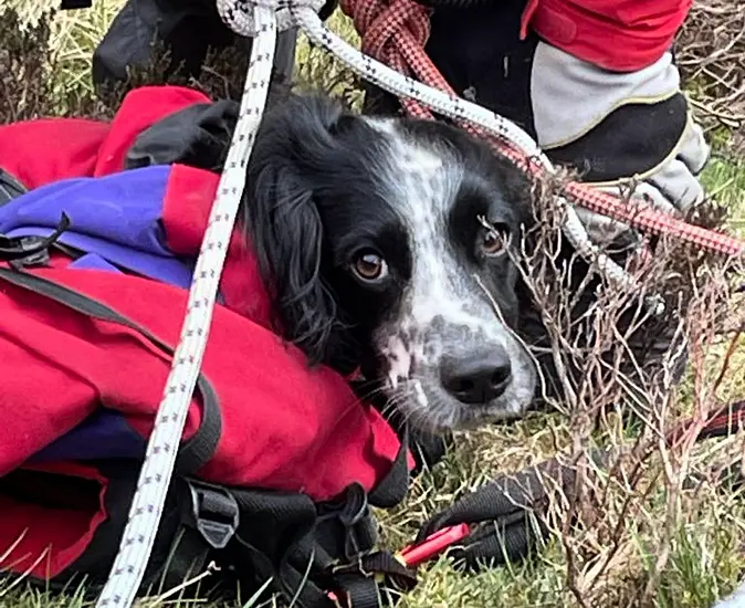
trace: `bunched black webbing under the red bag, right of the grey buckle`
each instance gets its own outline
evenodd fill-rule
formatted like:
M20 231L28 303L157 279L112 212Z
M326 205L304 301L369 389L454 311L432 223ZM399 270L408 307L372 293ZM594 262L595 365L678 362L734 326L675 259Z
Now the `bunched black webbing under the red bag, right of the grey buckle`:
M372 492L351 484L328 503L315 504L304 494L231 489L241 513L231 562L250 564L302 608L378 608L385 600L381 586L412 588L413 570L389 553L371 553L377 527L369 510L406 496L408 455L403 433L390 471Z

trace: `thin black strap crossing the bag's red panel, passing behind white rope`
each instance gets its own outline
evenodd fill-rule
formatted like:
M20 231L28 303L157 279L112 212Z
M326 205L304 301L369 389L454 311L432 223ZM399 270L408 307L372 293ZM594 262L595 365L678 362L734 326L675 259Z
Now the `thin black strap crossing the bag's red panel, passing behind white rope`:
M0 279L35 294L49 297L83 315L134 329L164 353L171 357L174 356L174 347L155 336L147 328L87 295L28 272L14 272L0 268ZM222 418L220 416L218 396L212 385L201 373L197 378L197 391L202 403L202 421L193 437L183 442L179 448L175 472L181 475L193 473L212 458L222 431Z

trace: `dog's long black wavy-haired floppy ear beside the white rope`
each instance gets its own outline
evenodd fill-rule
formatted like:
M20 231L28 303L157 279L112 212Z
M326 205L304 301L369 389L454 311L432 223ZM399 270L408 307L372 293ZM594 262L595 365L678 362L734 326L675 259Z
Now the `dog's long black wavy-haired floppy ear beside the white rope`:
M266 114L249 163L244 229L272 300L275 331L309 363L328 363L340 329L334 294L324 283L323 226L315 196L337 147L343 106L292 96Z

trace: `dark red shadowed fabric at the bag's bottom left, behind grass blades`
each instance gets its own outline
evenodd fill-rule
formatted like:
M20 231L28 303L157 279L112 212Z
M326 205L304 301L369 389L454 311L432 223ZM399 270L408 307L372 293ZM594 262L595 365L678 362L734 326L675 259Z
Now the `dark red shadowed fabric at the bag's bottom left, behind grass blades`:
M53 500L42 506L0 494L3 524L0 525L0 557L3 557L0 566L52 578L83 554L96 528L106 521L106 480L93 467L70 462L24 469L83 478L98 484L95 496L80 496L76 501L86 502L86 509L76 510L55 505Z

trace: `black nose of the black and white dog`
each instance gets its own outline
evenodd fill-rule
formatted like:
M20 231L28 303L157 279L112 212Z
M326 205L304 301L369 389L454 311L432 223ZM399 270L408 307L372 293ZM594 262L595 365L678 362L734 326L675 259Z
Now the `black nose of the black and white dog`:
M459 401L484 405L502 395L512 376L510 357L501 346L487 353L443 361L442 386Z

